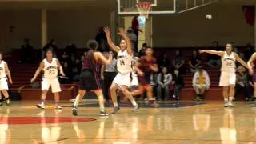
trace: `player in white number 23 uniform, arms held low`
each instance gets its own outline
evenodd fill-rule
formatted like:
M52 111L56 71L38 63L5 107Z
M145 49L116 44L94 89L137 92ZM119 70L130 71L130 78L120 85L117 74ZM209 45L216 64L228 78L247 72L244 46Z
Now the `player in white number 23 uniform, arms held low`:
M53 52L50 49L46 50L46 58L40 63L40 66L38 67L38 70L36 70L31 82L36 80L38 74L40 74L42 70L44 72L42 78L42 102L37 105L38 108L45 108L46 94L51 86L51 91L54 93L55 109L62 109L62 107L59 106L59 92L62 90L58 82L58 70L62 76L65 76L65 74L63 73L62 66L60 62L58 62L58 59L53 58Z

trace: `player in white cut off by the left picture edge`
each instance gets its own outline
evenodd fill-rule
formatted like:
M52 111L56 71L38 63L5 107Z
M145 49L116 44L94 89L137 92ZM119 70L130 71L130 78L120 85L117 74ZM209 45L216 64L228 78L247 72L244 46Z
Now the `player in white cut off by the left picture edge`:
M5 61L2 60L2 54L0 53L0 91L2 92L3 96L5 97L4 100L6 101L6 105L10 105L10 98L7 92L8 90L8 82L6 75L9 79L10 84L13 83L10 75L10 70ZM0 93L1 93L0 92ZM2 99L0 100L0 106L2 106Z

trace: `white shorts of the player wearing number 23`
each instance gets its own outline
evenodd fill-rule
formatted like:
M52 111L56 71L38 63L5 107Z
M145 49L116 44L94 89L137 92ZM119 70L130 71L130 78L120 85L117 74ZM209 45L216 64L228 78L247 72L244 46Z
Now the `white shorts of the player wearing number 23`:
M62 91L58 82L58 78L42 78L42 90L49 90L50 87L52 93L58 93Z

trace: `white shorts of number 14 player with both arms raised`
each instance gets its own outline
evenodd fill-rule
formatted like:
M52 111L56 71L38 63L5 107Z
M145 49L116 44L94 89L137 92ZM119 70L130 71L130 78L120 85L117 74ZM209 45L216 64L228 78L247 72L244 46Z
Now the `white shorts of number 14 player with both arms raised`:
M131 85L131 73L126 73L126 74L118 73L115 76L115 78L114 78L112 83L115 83L118 86L130 87L130 85Z

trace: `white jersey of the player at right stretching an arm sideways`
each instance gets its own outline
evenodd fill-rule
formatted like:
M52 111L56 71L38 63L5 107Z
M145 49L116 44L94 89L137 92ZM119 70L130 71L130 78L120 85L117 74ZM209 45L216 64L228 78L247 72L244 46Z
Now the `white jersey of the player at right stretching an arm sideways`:
M222 57L222 69L221 71L226 71L230 73L235 72L235 57L234 52L231 52L231 54L227 54L226 51L224 52L224 55Z

